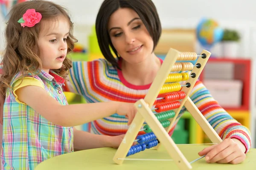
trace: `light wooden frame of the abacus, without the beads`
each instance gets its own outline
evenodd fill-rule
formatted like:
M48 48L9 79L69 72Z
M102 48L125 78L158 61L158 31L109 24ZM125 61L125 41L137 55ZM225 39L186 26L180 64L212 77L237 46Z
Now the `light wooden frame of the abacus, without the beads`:
M154 101L156 100L161 87L165 83L165 80L169 75L175 62L177 61L177 59L179 59L179 54L180 52L175 49L171 48L169 50L165 60L163 61L163 64L160 70L157 72L156 78L151 84L151 87L148 89L147 95L145 95L144 99L140 99L135 103L135 106L137 107L138 112L133 122L131 123L127 133L125 134L125 137L123 138L122 143L117 149L115 156L113 157L113 161L116 164L123 163L124 158L126 157L137 134L139 133L140 128L143 126L144 121L146 121L147 124L151 127L151 130L153 131L153 133L157 136L157 139L160 141L157 147L154 147L154 148L158 149L158 147L160 147L160 145L163 144L167 152L175 161L175 163L177 164L180 170L192 169L191 164L189 164L189 162L187 161L183 153L179 150L175 142L172 140L172 138L168 134L180 112L180 109L183 106L186 107L186 109L190 112L193 118L198 122L198 124L201 126L201 128L204 130L206 135L209 137L209 139L213 143L220 143L222 141L219 135L215 132L215 130L206 120L206 118L204 118L204 116L201 114L199 109L195 106L195 104L189 98L189 94L193 86L198 80L199 75L201 74L205 64L207 63L211 55L211 53L206 50L203 50L201 53L201 55L204 54L204 56L206 57L200 57L197 60L197 64L201 66L200 67L198 66L199 68L197 66L194 66L194 68L191 71L192 73L195 73L196 76L194 78L190 76L189 79L186 81L186 84L190 84L190 86L189 87L184 86L182 88L182 91L186 93L186 97L182 101L180 101L180 107L174 110L175 117L169 119L171 122L170 126L165 129L157 120L154 113L151 111L151 107L154 104Z

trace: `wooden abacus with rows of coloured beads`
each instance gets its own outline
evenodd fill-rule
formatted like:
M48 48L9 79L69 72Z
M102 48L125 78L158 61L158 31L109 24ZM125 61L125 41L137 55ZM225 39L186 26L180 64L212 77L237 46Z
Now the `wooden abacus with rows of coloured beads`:
M203 50L201 55L197 55L195 52L179 52L175 49L169 50L145 98L135 103L138 111L113 157L113 161L116 164L122 164L126 156L133 155L151 147L157 150L160 144L163 144L180 170L192 169L189 161L168 134L183 106L186 107L213 143L220 143L222 141L189 98L189 94L210 55L211 53L206 50ZM193 61L197 58L196 65L190 62L176 62ZM170 73L189 70L191 70L190 75L187 72ZM180 81L186 82L184 85L181 85L177 83ZM162 104L157 104L158 102ZM154 104L156 104L154 109L151 109ZM156 112L171 111L154 114L152 110ZM141 129L144 121L147 124ZM144 130L147 134L137 136L141 130ZM134 141L137 141L139 144L132 146Z

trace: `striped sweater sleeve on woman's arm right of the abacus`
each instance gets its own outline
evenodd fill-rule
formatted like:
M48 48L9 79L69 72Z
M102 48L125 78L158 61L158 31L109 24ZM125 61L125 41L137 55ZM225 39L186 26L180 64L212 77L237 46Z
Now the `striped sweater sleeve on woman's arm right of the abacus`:
M209 124L218 135L225 138L237 138L245 146L247 153L251 147L250 131L247 127L232 118L217 101L201 81L197 81L190 94L191 100L195 103Z

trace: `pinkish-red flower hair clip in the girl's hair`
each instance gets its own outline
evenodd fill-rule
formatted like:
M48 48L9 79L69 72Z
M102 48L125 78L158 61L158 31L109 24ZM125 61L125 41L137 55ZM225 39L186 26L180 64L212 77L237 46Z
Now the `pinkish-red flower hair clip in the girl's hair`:
M32 27L35 24L39 23L42 18L42 15L39 12L35 12L35 9L28 9L23 17L18 20L21 26Z

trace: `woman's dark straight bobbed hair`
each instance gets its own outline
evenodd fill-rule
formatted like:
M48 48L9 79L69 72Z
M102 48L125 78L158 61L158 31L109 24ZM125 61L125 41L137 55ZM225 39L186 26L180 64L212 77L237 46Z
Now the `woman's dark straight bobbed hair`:
M157 9L151 0L104 0L96 17L96 34L102 55L118 69L116 58L112 55L109 47L111 46L116 57L119 58L108 33L108 21L111 15L119 8L129 8L137 12L153 39L154 47L152 51L157 46L162 32Z

